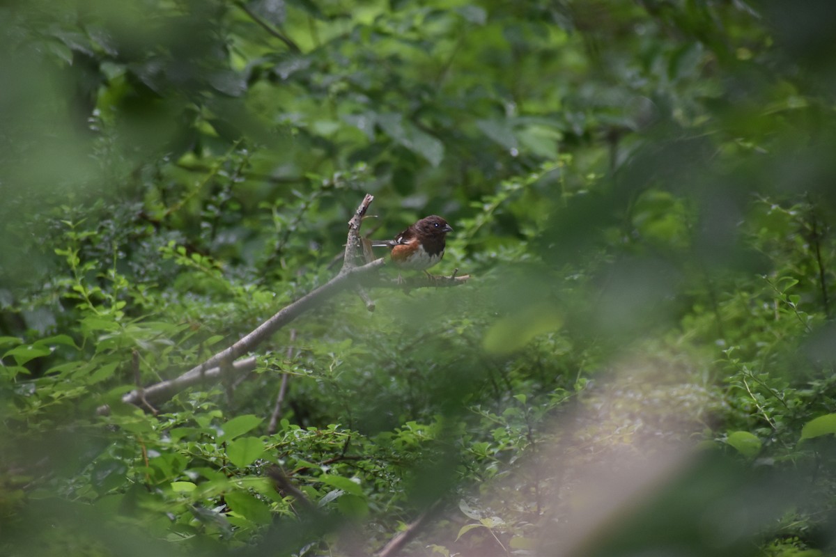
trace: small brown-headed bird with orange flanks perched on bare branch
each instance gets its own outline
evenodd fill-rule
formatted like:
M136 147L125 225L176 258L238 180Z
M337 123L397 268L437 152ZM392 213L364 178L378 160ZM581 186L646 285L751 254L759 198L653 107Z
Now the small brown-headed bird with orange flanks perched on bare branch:
M372 247L389 247L399 269L426 272L444 257L445 236L453 228L438 215L426 216L395 236L395 240L372 240ZM426 273L430 276L430 273ZM399 275L400 276L400 275Z

